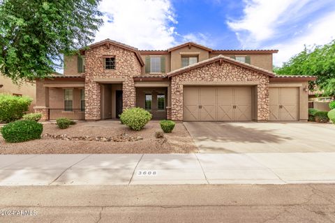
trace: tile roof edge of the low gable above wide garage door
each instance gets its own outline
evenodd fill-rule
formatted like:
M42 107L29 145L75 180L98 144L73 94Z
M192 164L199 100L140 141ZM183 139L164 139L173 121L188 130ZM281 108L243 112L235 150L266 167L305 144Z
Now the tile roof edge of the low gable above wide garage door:
M248 64L248 63L243 63L243 62L240 62L240 61L236 61L234 59L231 59L230 57L227 57L227 56L223 56L223 55L218 55L218 56L215 56L211 59L207 59L207 60L204 60L204 61L200 61L198 63L194 63L190 66L186 66L184 68L180 68L180 69L177 69L177 70L173 70L171 72L168 73L168 77L172 77L174 75L178 75L180 73L183 73L183 72L186 72L188 70L193 70L195 68L200 68L202 66L206 66L207 64L210 64L210 63L215 63L216 61L226 61L228 63L233 63L237 66L241 66L241 67L244 67L244 68L247 68L247 69L250 69L250 70L254 70L256 72L261 72L262 74L265 74L265 75L269 75L270 77L275 77L276 74L274 72L271 72L269 70L265 70L263 68L258 68L256 66L253 66L251 64Z

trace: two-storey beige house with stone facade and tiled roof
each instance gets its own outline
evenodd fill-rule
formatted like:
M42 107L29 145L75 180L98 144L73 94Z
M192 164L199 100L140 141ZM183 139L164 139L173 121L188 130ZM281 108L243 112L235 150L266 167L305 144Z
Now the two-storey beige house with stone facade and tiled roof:
M308 81L276 76L278 50L215 50L185 43L138 50L103 40L65 59L64 75L36 80L45 119L117 118L142 107L176 121L306 121Z

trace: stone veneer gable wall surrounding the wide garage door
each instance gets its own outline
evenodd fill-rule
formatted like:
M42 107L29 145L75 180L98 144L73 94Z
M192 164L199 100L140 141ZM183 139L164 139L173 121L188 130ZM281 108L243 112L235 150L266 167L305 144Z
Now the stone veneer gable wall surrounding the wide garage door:
M183 120L183 85L181 82L255 82L258 81L258 121L269 120L269 76L231 63L211 63L172 77L172 120Z

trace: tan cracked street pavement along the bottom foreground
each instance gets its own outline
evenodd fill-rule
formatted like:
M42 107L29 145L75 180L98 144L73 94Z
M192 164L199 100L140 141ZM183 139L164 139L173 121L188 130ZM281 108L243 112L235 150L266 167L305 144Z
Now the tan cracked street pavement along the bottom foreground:
M0 222L335 222L334 184L17 186L0 194Z

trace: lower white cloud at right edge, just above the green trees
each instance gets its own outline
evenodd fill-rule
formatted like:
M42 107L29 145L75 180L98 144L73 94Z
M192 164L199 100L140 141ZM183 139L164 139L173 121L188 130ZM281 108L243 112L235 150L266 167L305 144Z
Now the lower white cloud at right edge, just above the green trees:
M274 55L274 64L281 66L291 56L301 52L304 49L304 45L309 47L313 45L325 45L334 40L334 21L335 13L329 13L319 20L308 24L307 31L301 33L299 37L268 46L271 49L279 49L278 54Z

